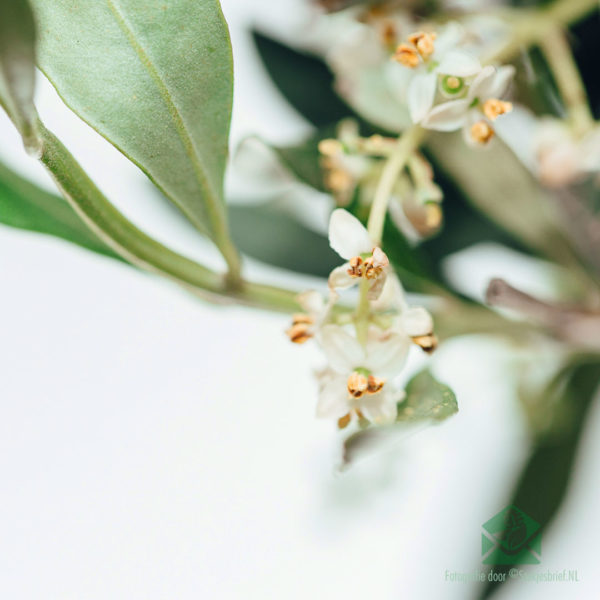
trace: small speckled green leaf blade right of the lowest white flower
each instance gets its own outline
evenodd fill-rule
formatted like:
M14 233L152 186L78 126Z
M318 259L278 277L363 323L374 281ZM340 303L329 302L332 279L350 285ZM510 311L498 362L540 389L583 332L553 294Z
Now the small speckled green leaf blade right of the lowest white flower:
M454 392L440 383L429 370L415 375L406 386L406 398L398 404L399 422L425 419L443 421L458 412Z

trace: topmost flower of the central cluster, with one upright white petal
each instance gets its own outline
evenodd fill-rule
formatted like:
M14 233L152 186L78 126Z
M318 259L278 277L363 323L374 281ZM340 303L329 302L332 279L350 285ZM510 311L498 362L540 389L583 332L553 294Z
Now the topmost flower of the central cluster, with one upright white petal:
M343 208L331 214L329 245L348 261L329 275L330 289L349 288L360 279L367 279L372 281L369 299L375 299L385 282L388 257L376 246L362 223Z

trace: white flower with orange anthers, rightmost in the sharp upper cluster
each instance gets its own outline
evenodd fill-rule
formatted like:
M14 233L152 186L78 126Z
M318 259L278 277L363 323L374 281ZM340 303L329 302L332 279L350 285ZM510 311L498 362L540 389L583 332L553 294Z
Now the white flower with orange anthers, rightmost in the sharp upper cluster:
M421 121L421 126L436 131L462 128L467 140L487 142L494 134L489 121L494 121L512 109L512 105L503 102L501 98L506 94L513 75L512 66L498 69L484 67L469 86L464 98L432 108Z

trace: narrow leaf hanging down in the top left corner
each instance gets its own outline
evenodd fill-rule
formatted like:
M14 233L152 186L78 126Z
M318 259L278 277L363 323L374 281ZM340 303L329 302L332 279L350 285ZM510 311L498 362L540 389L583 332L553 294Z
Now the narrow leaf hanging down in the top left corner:
M0 105L21 135L25 147L39 150L35 85L35 24L27 0L0 2Z

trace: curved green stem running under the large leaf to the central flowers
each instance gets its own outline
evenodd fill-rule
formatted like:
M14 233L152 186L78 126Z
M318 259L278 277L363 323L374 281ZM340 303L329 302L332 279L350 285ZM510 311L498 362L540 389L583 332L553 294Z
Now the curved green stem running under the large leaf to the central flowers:
M232 287L226 277L146 235L106 199L54 134L42 124L39 129L43 144L40 160L58 188L96 235L127 261L168 277L211 301L285 312L298 309L294 292L246 282Z

